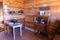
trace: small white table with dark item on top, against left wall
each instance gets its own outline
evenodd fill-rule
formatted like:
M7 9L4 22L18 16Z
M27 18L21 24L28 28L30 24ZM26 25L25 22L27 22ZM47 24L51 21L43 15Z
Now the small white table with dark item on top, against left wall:
M14 40L15 40L15 28L20 27L20 36L22 36L22 23L15 23L14 24L12 22L6 22L6 24L8 25L7 26L8 34L9 34L9 27L13 28L13 37L14 37Z

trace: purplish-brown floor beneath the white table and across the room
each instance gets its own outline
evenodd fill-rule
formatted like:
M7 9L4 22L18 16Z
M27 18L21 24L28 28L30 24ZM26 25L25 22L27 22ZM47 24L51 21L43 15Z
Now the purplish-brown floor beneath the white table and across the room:
M44 37L43 39L46 40L46 37ZM13 36L11 33L8 35L7 32L3 31L0 32L0 40L13 40ZM16 32L16 40L42 40L42 37L41 35L34 35L33 32L24 29L22 37L20 37L19 33ZM60 36L56 35L54 40L60 40Z

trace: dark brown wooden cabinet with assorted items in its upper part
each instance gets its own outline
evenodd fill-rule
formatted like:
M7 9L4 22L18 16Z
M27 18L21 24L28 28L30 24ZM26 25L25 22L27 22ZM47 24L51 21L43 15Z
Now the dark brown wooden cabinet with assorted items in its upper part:
M40 20L40 22L35 22L35 30L37 30L38 32L45 32L47 27L46 25L48 24L48 16L37 16L36 18L39 17L41 19L44 19L44 21Z

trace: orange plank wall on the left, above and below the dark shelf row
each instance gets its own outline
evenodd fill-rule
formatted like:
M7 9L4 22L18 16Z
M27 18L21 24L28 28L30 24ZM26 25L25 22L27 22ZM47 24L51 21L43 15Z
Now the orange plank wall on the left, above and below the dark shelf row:
M24 0L3 0L3 5L7 5L8 9L10 11L24 11ZM4 14L8 19L10 20L13 16L15 16L16 19L24 18L24 14L22 15L15 15L15 14ZM6 19L6 18L5 18ZM8 20L7 19L7 20Z

